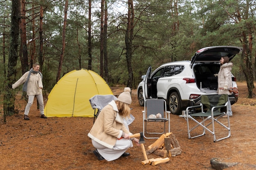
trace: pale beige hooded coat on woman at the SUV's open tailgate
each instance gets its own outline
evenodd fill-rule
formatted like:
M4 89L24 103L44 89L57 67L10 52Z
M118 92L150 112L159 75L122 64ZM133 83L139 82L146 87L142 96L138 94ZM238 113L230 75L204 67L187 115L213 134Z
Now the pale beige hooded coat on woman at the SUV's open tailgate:
M231 78L231 70L232 70L233 63L228 62L225 64L222 64L220 66L220 71L218 73L218 90L217 93L219 95L228 94L231 95L231 92L229 90L220 90L220 87L232 87L232 78Z

